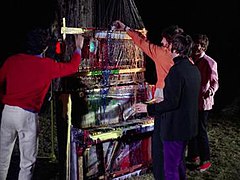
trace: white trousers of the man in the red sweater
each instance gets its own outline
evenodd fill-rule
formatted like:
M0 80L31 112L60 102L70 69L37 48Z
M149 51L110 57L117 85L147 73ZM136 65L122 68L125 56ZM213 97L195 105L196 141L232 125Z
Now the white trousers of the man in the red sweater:
M0 180L7 178L17 137L20 151L18 180L31 180L38 151L38 114L5 105L0 128Z

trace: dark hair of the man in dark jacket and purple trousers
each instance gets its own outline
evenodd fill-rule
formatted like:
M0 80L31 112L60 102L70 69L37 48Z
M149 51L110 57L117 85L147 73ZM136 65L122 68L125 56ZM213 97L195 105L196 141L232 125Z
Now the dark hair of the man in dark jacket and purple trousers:
M179 53L179 56L189 57L191 55L192 46L193 41L191 36L185 33L177 34L173 37L171 51L173 52L175 50Z

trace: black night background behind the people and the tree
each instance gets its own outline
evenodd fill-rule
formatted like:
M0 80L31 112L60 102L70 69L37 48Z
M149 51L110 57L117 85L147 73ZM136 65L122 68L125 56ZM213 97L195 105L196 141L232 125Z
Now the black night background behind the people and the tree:
M210 44L207 54L218 63L220 88L215 96L215 110L221 110L240 96L240 6L229 1L157 1L135 0L148 30L149 39L158 43L161 30L178 24L190 35L205 33ZM1 4L0 64L21 50L23 34L34 25L53 21L54 0L8 0ZM150 70L154 65L149 63Z

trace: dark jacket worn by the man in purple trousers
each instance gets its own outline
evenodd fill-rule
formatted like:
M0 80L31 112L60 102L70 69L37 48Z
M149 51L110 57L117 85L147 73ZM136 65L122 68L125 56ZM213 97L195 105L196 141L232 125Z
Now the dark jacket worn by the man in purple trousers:
M161 121L163 140L189 140L197 135L198 96L201 76L187 58L176 57L165 78L164 101L147 106Z

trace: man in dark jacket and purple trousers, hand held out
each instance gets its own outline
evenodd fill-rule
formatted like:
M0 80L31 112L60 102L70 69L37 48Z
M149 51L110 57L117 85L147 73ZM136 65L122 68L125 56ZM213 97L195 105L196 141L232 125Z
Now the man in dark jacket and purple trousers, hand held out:
M189 35L181 34L173 38L171 52L174 65L165 78L164 100L135 105L137 112L147 109L150 116L160 121L166 180L186 179L184 151L188 140L197 134L201 76L189 59L191 47Z

